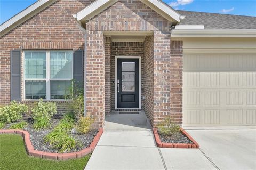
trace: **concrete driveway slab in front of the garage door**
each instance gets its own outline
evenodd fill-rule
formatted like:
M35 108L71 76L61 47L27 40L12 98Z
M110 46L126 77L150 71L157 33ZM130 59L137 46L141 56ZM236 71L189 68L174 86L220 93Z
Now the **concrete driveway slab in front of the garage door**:
M256 130L186 130L219 169L256 169Z

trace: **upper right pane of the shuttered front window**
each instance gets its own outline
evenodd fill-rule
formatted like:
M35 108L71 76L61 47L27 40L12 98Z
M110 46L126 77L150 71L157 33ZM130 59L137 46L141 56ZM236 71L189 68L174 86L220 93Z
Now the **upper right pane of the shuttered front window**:
M72 52L51 51L51 78L72 78Z

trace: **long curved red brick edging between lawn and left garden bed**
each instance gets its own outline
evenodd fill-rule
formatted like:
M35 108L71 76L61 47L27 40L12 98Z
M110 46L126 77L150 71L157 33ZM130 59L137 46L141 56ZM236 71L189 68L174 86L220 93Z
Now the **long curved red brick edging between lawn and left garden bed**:
M88 148L85 148L78 152L72 152L72 153L51 153L51 152L43 152L43 151L35 150L29 139L29 133L27 131L10 129L10 130L0 130L0 134L1 133L2 134L14 133L14 134L22 135L25 141L27 153L30 156L53 159L53 160L67 160L67 159L81 158L91 153L100 140L100 137L103 133L103 128L99 129L99 132L95 135L94 139L92 140Z

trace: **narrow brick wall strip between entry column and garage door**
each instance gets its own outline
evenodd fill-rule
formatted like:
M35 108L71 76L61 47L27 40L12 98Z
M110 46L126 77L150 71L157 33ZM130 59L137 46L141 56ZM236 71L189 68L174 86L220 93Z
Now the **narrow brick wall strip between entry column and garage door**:
M182 41L171 41L171 90L170 114L177 123L182 124L182 72L183 48Z

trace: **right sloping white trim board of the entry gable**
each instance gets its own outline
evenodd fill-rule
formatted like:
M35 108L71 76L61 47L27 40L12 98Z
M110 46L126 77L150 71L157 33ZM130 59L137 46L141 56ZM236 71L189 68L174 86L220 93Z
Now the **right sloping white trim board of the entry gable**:
M156 7L158 10L161 10L163 13L173 18L175 21L180 22L181 15L177 11L172 9L170 6L164 4L163 2L160 2L158 0L140 0L140 1L148 5L149 7L151 7L151 5L154 5L154 7L151 7L153 10L155 10L155 7ZM158 10L156 10L156 12Z

